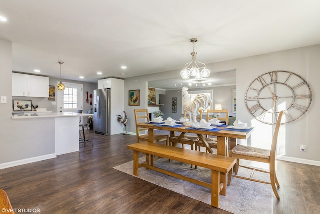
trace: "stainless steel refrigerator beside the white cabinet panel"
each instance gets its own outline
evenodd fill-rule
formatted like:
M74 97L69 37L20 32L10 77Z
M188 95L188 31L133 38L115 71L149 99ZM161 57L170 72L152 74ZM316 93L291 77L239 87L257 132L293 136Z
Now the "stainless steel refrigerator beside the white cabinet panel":
M110 135L110 89L96 89L93 92L93 131Z

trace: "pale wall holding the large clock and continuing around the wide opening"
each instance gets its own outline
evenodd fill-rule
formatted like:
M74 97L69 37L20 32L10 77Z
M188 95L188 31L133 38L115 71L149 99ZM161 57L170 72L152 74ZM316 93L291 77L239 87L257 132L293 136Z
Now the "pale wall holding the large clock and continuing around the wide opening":
M313 92L312 104L307 114L302 118L281 126L278 154L284 160L320 165L320 155L318 155L320 144L318 143L319 140L315 130L318 126L317 121L320 119L320 112L317 110L317 107L320 106L320 101L316 97L320 92L320 84L318 84L320 80L319 59L320 45L313 45L207 65L211 72L236 69L237 119L255 127L250 140L241 140L238 143L253 146L259 145L265 148L270 146L273 127L261 123L251 116L244 104L244 93L249 84L261 74L274 70L291 71L308 81ZM141 102L144 103L146 102L145 93L147 86L143 85L147 85L147 81L161 80L164 79L163 77L165 79L177 78L179 74L179 70L172 70L128 78L125 80L125 91L140 89L140 93L143 95L141 96ZM146 105L140 105L139 108L146 108ZM133 108L126 106L125 109L131 119L128 124L128 131L135 132ZM306 145L307 149L305 152L299 150L300 144Z

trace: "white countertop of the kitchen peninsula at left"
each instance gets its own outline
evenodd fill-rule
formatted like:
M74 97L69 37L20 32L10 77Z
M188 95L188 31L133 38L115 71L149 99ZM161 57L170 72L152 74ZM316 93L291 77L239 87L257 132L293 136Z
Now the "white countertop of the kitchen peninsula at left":
M74 113L74 112L23 112L12 114L12 119L27 119L27 118L43 118L43 117L74 117L74 116L90 116L93 114Z

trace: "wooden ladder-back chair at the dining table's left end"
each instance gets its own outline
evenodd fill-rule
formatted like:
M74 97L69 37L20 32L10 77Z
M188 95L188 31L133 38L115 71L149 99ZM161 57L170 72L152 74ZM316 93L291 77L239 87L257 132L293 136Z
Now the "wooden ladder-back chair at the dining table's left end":
M134 116L135 116L135 125L138 123L145 123L150 122L149 118L149 111L148 109L134 109ZM149 141L149 135L148 134L140 134L142 131L147 131L147 128L136 128L136 141ZM161 142L166 141L166 145L169 145L169 135L163 135L163 134L154 134L155 142Z

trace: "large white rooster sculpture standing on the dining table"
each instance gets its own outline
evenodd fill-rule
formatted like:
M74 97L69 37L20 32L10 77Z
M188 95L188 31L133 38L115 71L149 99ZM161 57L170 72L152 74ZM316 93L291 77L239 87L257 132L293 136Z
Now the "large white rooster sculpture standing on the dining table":
M212 99L207 94L198 94L194 100L190 100L190 94L187 87L182 88L182 95L182 106L190 116L190 121L185 122L185 125L193 126L198 123L196 121L196 115L199 112L199 109L201 107L207 109L211 105Z

